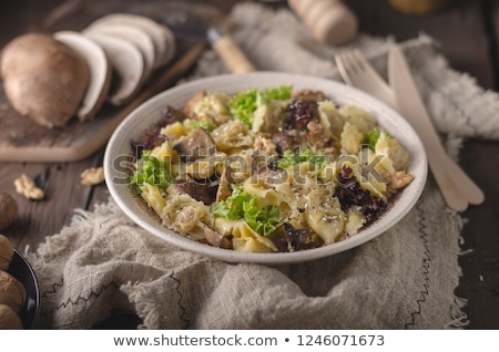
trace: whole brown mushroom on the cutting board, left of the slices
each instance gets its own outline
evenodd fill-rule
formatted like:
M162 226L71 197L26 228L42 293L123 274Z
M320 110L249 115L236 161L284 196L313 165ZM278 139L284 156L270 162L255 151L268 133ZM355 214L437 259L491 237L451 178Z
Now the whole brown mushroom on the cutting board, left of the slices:
M35 123L64 126L75 115L90 80L86 61L44 33L28 33L3 49L1 74L12 106Z

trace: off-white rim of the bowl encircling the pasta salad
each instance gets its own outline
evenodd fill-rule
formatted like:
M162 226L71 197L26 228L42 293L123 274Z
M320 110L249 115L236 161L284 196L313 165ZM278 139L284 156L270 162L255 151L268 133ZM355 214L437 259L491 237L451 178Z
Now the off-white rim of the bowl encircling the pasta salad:
M262 83L262 81L272 81L276 82L274 85L268 83ZM244 87L241 86L241 82L244 82ZM121 134L130 131L130 128L136 127L140 125L139 117L141 114L146 114L147 112L154 111L152 106L156 104L163 104L166 106L165 101L169 99L177 99L179 96L185 96L193 93L197 93L202 90L208 90L212 92L221 91L220 87L223 86L223 91L231 91L236 93L237 91L242 91L245 89L262 86L278 86L284 84L289 84L289 82L306 82L305 85L310 85L314 89L315 86L329 86L332 91L342 91L345 95L350 95L350 99L355 99L359 102L365 103L364 106L369 106L370 108L376 108L377 113L384 113L386 116L389 116L389 121L391 123L396 123L400 127L403 127L404 134L407 138L410 138L410 165L415 167L416 177L414 182L408 186L411 189L411 197L408 197L408 189L404 189L400 194L400 199L404 199L405 207L397 208L396 206L388 209L384 216L381 216L375 224L369 226L368 228L361 229L357 235L349 237L345 240L319 247L314 249L307 249L304 251L295 251L295 252L269 252L269 253L255 253L255 252L241 252L235 250L221 249L216 247L212 247L205 244L196 242L183 235L176 234L166 227L162 226L159 221L154 224L150 219L152 217L143 217L143 211L140 211L139 206L134 206L134 208L130 208L123 199L123 185L116 185L114 179L113 167L113 158L115 157L115 149L118 145L121 143L120 138ZM327 94L327 92L326 92ZM334 100L334 97L332 97ZM375 116L378 121L378 116ZM154 121L154 120L152 120ZM378 122L379 123L379 122ZM383 123L380 123L383 125ZM144 130L141 131L143 133ZM393 131L389 131L390 133ZM131 139L129 141L130 144ZM132 152L130 149L130 152ZM251 73L240 73L240 74L221 74L215 76L196 79L193 81L189 81L186 83L182 83L174 87L167 89L153 97L149 99L140 106L134 108L116 127L114 133L111 135L110 141L106 145L104 152L104 177L105 183L108 185L109 191L113 200L118 204L118 206L123 210L123 213L131 218L136 225L142 227L147 232L160 237L170 244L182 248L184 250L189 250L191 252L195 252L198 255L204 255L211 257L213 259L218 259L226 262L253 262L253 263L263 263L263 265L288 265L288 263L298 263L305 261L312 261L316 259L320 259L324 257L328 257L332 255L336 255L348 249L358 247L375 237L386 232L389 228L395 226L399 220L401 220L413 207L416 205L420 195L422 194L426 178L427 178L427 157L425 154L425 148L422 143L416 132L413 130L410 124L404 120L404 117L393 110L387 104L380 102L379 100L373 97L371 95L357 90L355 87L345 85L340 82L309 76L303 74L295 73L285 73L285 72L251 72ZM130 187L128 187L130 189ZM406 191L407 190L407 191ZM139 211L139 213L138 213ZM141 216L142 215L142 216ZM390 221L386 220L386 217L390 219Z

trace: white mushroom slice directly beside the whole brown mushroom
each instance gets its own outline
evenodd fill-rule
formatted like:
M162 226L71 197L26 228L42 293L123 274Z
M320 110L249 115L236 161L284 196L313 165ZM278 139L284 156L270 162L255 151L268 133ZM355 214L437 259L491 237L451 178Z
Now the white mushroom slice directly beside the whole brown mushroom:
M61 31L53 37L80 53L89 64L90 82L77 115L80 121L91 120L108 97L113 72L111 63L100 45L79 32Z

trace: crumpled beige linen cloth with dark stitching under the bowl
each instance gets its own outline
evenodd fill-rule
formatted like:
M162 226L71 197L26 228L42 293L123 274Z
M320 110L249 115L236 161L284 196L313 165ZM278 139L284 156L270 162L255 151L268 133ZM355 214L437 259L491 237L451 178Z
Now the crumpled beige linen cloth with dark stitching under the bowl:
M359 34L348 46L324 48L287 10L243 3L231 17L235 40L259 70L339 80L333 54L356 46L386 72L390 39ZM495 93L450 70L430 38L401 44L454 155L464 137L499 137ZM191 79L222 72L208 51ZM284 267L233 265L163 242L110 199L77 209L68 227L28 252L41 288L37 328L88 329L113 309L136 312L145 329L461 328L466 300L455 289L462 226L429 176L416 207L360 247Z

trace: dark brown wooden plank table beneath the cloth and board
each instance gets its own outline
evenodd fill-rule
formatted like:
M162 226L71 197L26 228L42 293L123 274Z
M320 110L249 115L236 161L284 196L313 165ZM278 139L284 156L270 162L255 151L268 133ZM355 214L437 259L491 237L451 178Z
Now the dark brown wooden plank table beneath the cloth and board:
M2 1L0 46L27 31L81 29L90 21L90 12L85 9L102 2L105 1ZM227 12L238 0L197 2L200 6L216 6ZM496 1L455 0L450 8L428 15L401 14L391 9L387 0L345 2L357 14L361 31L394 35L397 41L425 32L440 42L441 51L454 69L469 73L485 89L499 89L499 3ZM285 6L285 2L274 6ZM119 4L114 10L120 10ZM192 44L189 38L184 38L180 50L185 51ZM80 185L80 173L100 166L103 151L104 147L82 161L70 163L0 163L0 190L12 194L20 205L18 219L3 230L16 247L29 245L32 250L35 249L47 236L59 232L69 224L72 209L92 209L93 205L108 199L109 191L104 184L94 187ZM462 277L456 293L468 300L464 309L470 321L468 329L499 329L498 154L499 142L491 141L466 141L460 154L462 167L486 193L483 205L471 207L462 214L468 219L462 231L462 250L472 251L467 251L459 260ZM21 174L34 178L44 189L43 201L29 201L16 194L13 180ZM116 312L96 328L133 328L136 323L136 317Z

